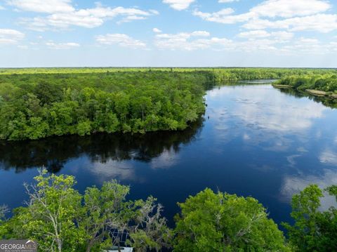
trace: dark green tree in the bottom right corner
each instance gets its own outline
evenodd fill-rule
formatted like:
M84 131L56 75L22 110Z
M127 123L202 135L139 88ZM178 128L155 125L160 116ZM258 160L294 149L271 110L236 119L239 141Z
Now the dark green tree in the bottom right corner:
M337 197L336 185L326 188L326 192ZM323 196L317 185L293 196L291 217L295 223L283 225L297 251L337 251L337 209L331 206L328 211L320 211Z

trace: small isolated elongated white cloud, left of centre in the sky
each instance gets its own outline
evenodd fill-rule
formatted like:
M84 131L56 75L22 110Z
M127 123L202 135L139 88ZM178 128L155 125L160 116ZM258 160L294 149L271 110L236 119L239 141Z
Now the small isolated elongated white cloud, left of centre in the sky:
M95 37L99 44L118 45L129 48L146 48L146 44L138 39L133 39L126 34L106 34Z

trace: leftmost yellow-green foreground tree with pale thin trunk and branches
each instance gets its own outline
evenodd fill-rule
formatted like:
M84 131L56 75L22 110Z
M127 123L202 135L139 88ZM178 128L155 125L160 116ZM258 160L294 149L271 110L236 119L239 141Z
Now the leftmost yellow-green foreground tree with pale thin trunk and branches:
M37 185L25 185L29 201L18 208L6 226L6 238L34 239L43 251L78 251L84 244L84 232L74 220L81 210L81 195L73 189L74 177L46 176L42 171Z

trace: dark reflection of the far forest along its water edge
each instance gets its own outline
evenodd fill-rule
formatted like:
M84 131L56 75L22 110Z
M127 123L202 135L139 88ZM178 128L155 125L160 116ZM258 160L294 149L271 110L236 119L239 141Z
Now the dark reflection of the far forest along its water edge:
M180 144L188 144L201 130L204 119L200 117L185 131L140 134L97 133L80 137L68 135L19 142L0 142L0 168L15 169L45 166L58 173L70 159L85 154L91 161L105 164L109 160L137 160L150 162L165 150L179 152Z

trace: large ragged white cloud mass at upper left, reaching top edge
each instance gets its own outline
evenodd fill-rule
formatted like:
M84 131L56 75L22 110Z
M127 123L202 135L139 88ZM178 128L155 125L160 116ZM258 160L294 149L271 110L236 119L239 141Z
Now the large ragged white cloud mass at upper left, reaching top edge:
M12 0L12 6L22 11L46 13L49 15L34 18L22 18L21 24L29 29L44 31L46 29L67 29L74 25L93 28L103 25L106 20L119 18L121 22L144 20L158 11L143 11L139 8L104 7L96 4L95 8L75 9L70 0Z

